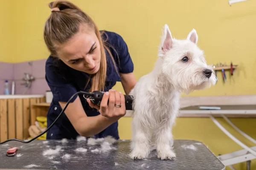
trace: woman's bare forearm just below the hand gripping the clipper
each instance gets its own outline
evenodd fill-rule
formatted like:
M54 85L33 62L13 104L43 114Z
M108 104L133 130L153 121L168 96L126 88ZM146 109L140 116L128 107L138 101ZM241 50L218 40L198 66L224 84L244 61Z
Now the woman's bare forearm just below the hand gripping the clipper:
M81 136L93 136L110 126L114 121L102 115L81 117L77 122L77 132Z

